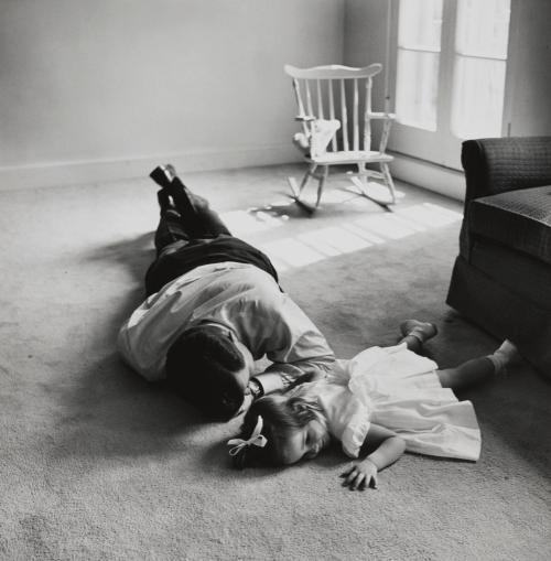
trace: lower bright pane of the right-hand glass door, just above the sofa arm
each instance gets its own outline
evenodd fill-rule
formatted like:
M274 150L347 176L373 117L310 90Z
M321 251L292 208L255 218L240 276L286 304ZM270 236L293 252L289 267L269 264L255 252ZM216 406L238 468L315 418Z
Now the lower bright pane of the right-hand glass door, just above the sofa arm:
M462 139L500 137L505 61L455 57L452 132Z

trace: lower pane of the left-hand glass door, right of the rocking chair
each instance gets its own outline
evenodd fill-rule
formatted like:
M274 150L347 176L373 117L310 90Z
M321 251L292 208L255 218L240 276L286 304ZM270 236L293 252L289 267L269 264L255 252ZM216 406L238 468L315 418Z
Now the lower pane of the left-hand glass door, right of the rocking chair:
M436 130L439 55L398 50L397 120L421 129Z

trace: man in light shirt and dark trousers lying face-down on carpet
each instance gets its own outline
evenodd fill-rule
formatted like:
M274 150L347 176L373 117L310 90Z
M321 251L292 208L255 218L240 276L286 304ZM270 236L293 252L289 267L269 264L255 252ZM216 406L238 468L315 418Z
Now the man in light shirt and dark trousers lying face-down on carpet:
M220 420L253 398L324 376L334 354L280 289L268 257L231 236L172 165L151 177L162 187L156 259L145 274L148 299L119 332L126 362ZM252 376L264 355L272 364Z

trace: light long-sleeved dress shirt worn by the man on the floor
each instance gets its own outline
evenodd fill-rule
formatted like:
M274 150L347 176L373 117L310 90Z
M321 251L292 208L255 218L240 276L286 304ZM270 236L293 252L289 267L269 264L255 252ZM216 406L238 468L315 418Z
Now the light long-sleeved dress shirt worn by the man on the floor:
M172 343L203 322L231 330L255 360L271 360L256 376L266 393L304 374L326 373L334 362L325 337L270 274L229 261L197 267L149 296L122 325L117 344L136 371L161 380Z

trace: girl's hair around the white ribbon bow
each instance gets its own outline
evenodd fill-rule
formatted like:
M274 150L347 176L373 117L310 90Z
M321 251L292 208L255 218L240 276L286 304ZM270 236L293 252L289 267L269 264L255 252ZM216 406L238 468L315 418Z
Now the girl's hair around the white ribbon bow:
M256 465L283 464L282 444L298 429L306 427L317 420L325 427L322 408L316 401L302 396L289 397L271 393L253 401L245 414L241 425L241 439L250 438L258 418L263 421L262 432L267 439L266 446L244 446L234 458L234 466L244 467Z

